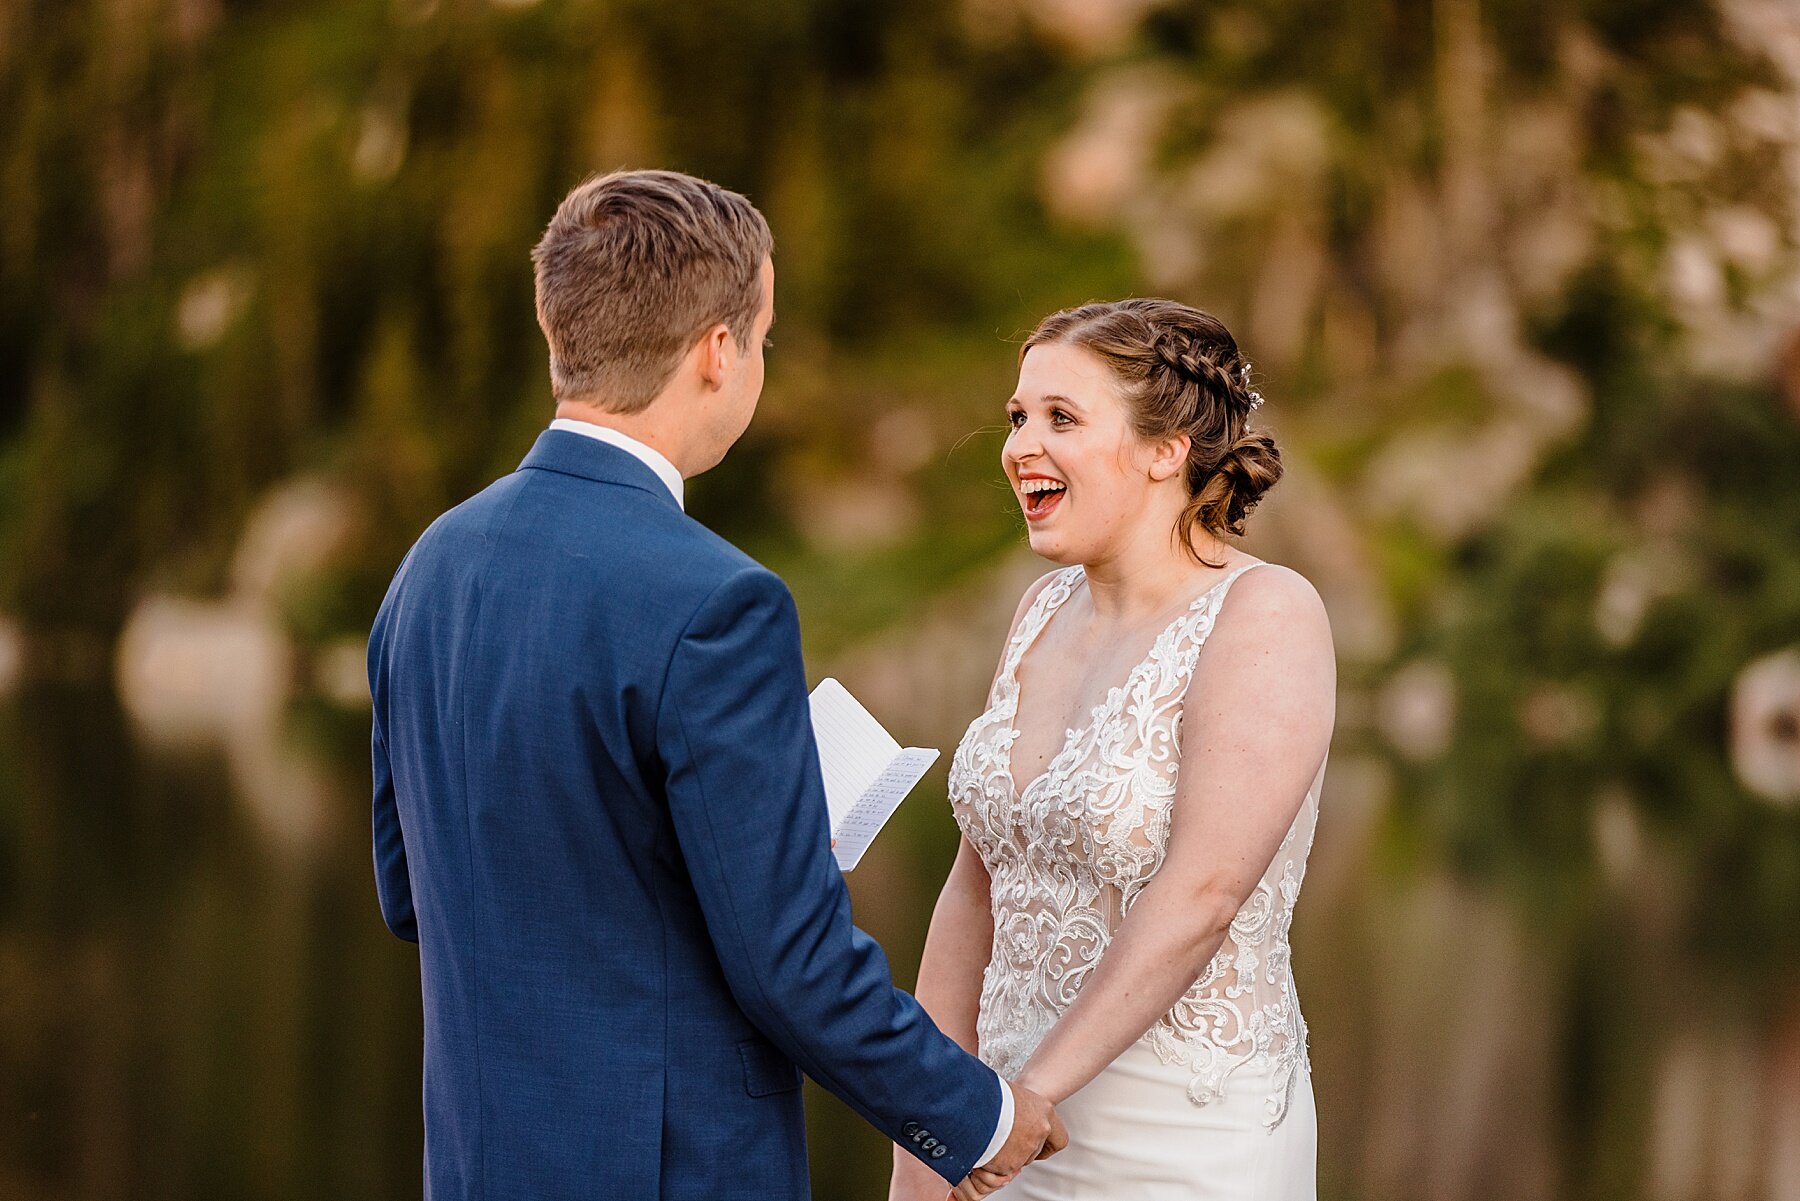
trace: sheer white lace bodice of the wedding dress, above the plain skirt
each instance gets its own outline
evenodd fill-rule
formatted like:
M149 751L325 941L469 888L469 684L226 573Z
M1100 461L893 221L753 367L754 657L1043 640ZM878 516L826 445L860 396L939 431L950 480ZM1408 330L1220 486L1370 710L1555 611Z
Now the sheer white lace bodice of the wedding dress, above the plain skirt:
M1019 621L986 713L950 762L950 805L994 877L994 954L981 983L981 1057L1017 1075L1075 1001L1132 900L1156 875L1168 841L1181 711L1201 645L1233 580L1175 618L1125 684L1094 706L1082 729L1022 792L1012 776L1019 738L1019 661L1082 583L1057 573ZM1307 1026L1289 972L1287 929L1318 819L1323 763L1249 900L1206 972L1147 1034L1168 1064L1192 1071L1188 1098L1204 1106L1226 1079L1260 1064L1274 1080L1265 1125L1287 1113L1307 1057Z

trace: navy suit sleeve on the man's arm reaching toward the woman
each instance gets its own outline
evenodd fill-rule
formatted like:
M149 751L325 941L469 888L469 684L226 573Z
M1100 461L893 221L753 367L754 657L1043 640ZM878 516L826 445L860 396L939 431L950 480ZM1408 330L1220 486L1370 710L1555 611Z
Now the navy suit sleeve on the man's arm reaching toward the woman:
M959 1181L1001 1084L895 987L850 920L787 587L749 567L698 609L670 664L657 744L675 835L733 996L801 1070Z

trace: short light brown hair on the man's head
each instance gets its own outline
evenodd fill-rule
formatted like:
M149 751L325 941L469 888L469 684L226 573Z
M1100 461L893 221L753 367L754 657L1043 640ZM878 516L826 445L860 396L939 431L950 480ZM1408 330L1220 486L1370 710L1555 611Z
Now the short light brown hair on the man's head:
M718 322L749 349L772 245L756 205L691 175L576 187L531 252L556 400L639 412Z

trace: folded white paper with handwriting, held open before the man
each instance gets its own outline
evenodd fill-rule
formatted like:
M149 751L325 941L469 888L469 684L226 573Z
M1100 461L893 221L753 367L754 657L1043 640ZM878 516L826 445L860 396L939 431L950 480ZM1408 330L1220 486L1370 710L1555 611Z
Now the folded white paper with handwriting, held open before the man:
M938 762L938 753L902 747L835 679L823 679L812 690L812 735L819 742L837 866L850 871L920 776Z

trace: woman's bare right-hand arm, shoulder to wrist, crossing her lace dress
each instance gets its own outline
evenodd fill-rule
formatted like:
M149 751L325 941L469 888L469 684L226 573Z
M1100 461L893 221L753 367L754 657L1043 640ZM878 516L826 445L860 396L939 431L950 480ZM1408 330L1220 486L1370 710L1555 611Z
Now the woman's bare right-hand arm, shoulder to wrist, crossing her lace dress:
M1188 684L1163 866L1019 1084L1062 1104L1193 987L1325 762L1336 688L1312 585L1282 567L1244 573Z

